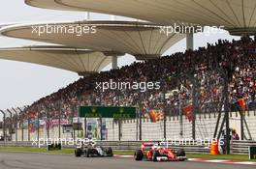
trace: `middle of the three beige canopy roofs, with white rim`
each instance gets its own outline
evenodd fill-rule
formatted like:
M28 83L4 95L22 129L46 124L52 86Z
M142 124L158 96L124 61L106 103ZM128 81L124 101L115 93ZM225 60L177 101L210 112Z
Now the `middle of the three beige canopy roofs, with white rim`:
M33 33L35 27L77 27L95 26L96 33L50 33L40 36ZM43 28L42 28L43 29ZM63 28L64 29L64 28ZM118 51L129 53L138 59L160 57L185 35L172 33L161 34L160 26L131 21L81 21L81 22L52 22L17 24L4 27L0 30L4 36L32 40L38 42L51 42L79 48L88 48L97 51Z

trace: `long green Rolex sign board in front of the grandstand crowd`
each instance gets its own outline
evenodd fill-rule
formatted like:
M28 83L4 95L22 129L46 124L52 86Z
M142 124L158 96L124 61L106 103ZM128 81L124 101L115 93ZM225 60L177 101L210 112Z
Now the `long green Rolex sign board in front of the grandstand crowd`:
M135 119L136 107L80 106L80 117Z

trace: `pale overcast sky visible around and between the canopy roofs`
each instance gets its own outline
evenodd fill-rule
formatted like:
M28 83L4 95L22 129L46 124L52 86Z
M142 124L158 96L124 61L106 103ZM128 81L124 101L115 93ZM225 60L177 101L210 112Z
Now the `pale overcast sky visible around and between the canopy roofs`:
M86 13L62 12L45 10L27 6L23 0L3 1L0 6L0 25L6 23L22 23L28 21L77 21L86 18ZM112 15L90 14L92 20L111 20ZM117 16L116 19L131 19ZM206 46L207 43L217 42L219 39L239 39L232 37L226 31L211 34L196 34L194 46ZM29 42L17 39L0 37L0 47L13 47L24 45L45 44L42 42ZM183 52L186 41L182 40L172 46L164 55ZM129 65L135 61L130 55L118 59L118 67ZM110 70L108 66L105 70ZM80 76L71 71L59 70L34 64L0 60L0 109L29 105L34 101L50 95L68 84L78 80ZM1 115L0 115L1 117Z

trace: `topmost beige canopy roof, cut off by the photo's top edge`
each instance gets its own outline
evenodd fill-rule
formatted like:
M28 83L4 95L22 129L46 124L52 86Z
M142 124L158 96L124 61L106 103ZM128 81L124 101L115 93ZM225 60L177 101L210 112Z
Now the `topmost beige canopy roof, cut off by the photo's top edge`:
M256 32L255 0L25 0L54 10L116 14L160 24L225 26L232 34Z

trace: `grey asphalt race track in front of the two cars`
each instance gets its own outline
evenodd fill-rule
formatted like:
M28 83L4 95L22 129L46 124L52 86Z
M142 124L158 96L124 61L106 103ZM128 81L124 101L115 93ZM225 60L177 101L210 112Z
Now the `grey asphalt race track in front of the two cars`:
M201 163L150 162L132 158L77 158L74 155L0 152L0 169L255 169L255 166Z

